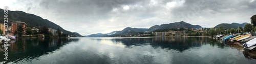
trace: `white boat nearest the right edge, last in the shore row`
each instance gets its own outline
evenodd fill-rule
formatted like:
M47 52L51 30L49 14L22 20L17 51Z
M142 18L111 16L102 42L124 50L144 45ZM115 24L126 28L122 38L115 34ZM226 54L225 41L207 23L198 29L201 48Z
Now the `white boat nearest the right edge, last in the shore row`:
M256 38L244 43L243 47L248 50L253 50L254 48L256 48Z

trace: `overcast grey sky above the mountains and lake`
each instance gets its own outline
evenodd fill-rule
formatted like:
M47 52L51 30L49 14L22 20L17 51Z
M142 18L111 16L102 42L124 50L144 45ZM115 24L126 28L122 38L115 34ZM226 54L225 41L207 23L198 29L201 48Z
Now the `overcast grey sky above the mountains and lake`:
M254 0L8 0L0 2L1 9L4 6L35 14L81 35L182 20L202 27L250 23L256 14Z

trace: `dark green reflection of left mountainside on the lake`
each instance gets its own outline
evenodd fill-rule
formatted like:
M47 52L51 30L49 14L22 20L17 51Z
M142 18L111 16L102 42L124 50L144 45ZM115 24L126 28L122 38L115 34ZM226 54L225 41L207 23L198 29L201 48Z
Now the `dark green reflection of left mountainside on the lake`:
M16 39L15 43L11 43L8 46L8 61L24 60L22 58L34 59L38 56L45 55L48 52L52 52L59 49L61 46L70 43L77 42L79 39L40 39L40 38L22 38ZM3 49L1 47L1 49ZM0 51L0 57L4 52ZM0 59L0 61L5 61Z

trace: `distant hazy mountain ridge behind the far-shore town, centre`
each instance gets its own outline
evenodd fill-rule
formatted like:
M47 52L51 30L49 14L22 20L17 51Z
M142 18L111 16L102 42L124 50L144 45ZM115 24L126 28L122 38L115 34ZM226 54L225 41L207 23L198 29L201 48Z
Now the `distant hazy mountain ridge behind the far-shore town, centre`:
M112 31L108 34L92 34L84 37L114 37L114 36L120 36L120 35L135 35L135 34L150 34L155 30L158 29L170 29L170 28L202 28L200 25L191 25L189 23L186 23L184 21L175 22L175 23L169 23L169 24L161 24L161 25L154 25L150 28L132 28L132 27L126 27L121 31Z

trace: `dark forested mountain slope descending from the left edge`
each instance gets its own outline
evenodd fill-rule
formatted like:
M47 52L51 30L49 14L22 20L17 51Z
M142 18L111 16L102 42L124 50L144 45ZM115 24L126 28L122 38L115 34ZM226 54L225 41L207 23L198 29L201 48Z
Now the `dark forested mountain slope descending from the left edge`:
M4 23L4 10L0 9L0 21L1 23ZM71 35L72 37L82 37L78 33L72 33L71 31L65 30L59 25L53 23L52 21L49 21L47 19L42 19L39 16L36 16L34 14L25 13L23 11L10 11L8 10L8 26L10 26L12 21L22 21L27 24L28 27L36 27L36 28L42 28L43 26L47 26L48 28L57 29L59 28L60 31L63 31L63 33Z

